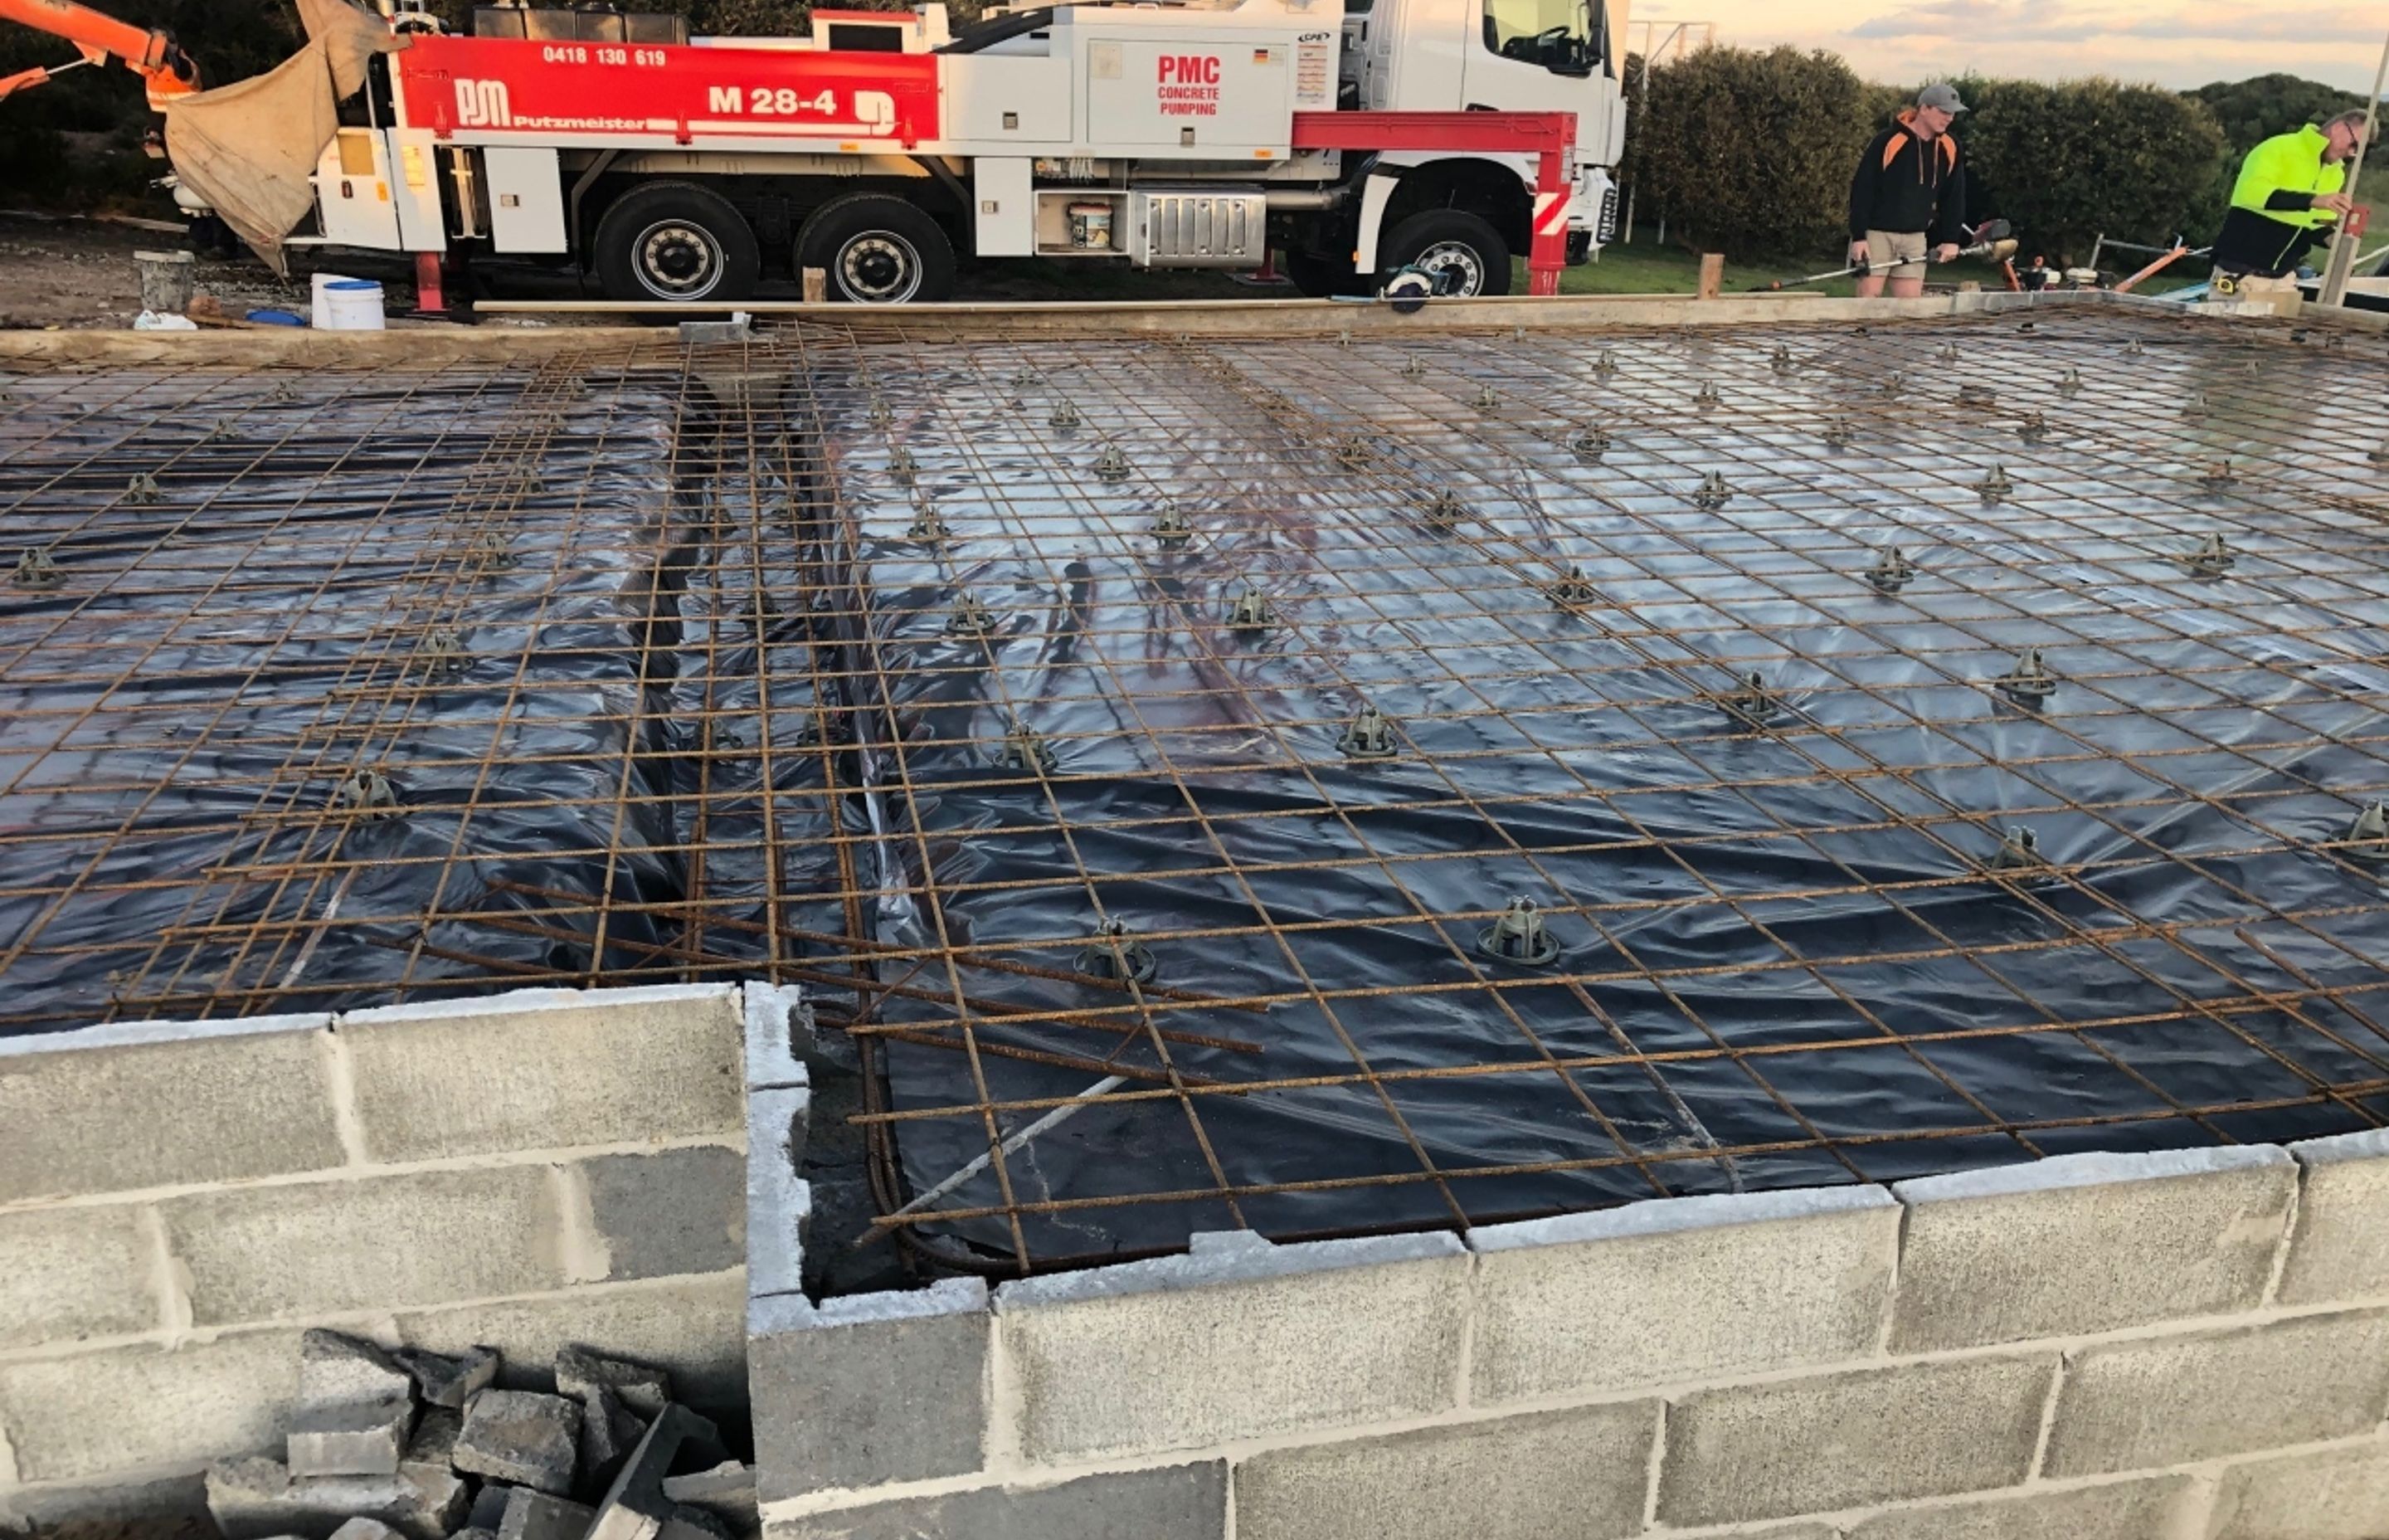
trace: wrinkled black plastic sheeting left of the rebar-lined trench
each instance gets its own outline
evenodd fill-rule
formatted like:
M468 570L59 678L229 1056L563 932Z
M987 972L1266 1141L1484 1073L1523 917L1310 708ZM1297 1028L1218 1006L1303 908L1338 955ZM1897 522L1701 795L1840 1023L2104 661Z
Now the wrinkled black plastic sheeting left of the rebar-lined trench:
M248 990L334 1009L681 945L705 720L674 710L702 703L674 670L712 622L678 574L717 488L674 483L676 380L10 385L10 533L48 543L67 581L0 586L5 887L31 894L0 899L0 957L26 947L7 1016L234 1014ZM158 500L127 500L131 476ZM473 569L456 545L478 524L454 514L492 500L511 562ZM435 619L471 665L425 684L406 665ZM404 815L325 813L358 763L387 770ZM724 751L717 770L743 765ZM805 837L803 808L781 823Z

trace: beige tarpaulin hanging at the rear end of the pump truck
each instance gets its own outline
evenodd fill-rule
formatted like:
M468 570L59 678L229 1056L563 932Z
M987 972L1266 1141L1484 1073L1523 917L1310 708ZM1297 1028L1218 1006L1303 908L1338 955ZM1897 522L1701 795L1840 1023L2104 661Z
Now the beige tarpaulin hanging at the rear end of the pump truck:
M263 256L289 273L282 237L315 208L315 163L339 127L339 103L366 81L366 60L404 48L389 24L349 0L299 0L308 45L275 69L167 105L174 175Z

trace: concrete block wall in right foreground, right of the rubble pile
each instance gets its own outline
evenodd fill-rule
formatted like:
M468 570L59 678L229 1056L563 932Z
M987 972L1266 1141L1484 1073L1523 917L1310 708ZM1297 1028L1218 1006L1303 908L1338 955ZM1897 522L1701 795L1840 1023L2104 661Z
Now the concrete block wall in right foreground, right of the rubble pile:
M2384 1236L2363 1133L819 1303L781 1258L767 1540L2370 1540Z

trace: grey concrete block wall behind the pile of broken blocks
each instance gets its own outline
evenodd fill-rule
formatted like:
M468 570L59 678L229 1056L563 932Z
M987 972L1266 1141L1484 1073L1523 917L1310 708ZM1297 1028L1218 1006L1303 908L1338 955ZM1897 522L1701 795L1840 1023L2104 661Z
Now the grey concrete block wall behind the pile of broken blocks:
M299 1332L745 1392L743 1000L526 990L0 1040L0 1526L275 1452Z

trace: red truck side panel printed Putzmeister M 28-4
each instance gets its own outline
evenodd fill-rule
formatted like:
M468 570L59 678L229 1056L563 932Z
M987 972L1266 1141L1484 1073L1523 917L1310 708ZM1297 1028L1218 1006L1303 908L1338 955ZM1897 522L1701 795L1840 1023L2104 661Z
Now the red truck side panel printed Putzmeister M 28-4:
M936 139L936 57L418 36L406 122L440 136Z

